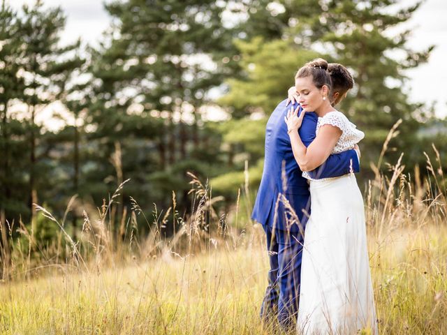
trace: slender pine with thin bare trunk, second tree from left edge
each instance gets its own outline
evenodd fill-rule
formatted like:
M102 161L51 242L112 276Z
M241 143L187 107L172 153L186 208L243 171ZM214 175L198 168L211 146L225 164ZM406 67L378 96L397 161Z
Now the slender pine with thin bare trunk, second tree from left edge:
M64 93L69 73L80 66L75 50L79 42L59 46L60 32L66 18L60 8L43 8L38 0L33 6L24 5L20 20L22 53L20 67L24 73L24 96L27 105L29 132L29 207L31 223L34 222L34 203L38 203L38 188L43 185L43 164L38 156L41 145L41 127L36 124L36 115L56 101ZM45 150L43 151L45 154Z

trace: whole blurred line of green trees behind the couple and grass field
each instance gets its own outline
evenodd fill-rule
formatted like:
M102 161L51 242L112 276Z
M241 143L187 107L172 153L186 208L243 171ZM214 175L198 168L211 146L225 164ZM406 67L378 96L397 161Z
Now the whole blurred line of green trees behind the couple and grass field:
M191 211L188 172L225 197L223 210L238 188L249 202L261 179L268 116L286 98L295 71L314 57L344 64L355 78L339 110L366 133L362 178L372 176L397 122L399 135L390 139L382 166L401 152L409 172L425 166L423 151L445 140L430 129L443 121L430 106L411 103L402 87L404 71L427 61L433 47L410 50L410 31L387 34L420 6L390 10L396 3L112 1L105 3L110 27L92 47L82 38L61 45L61 8L39 0L14 10L3 0L3 231L22 222L41 232L38 239L51 239L33 204L64 216L77 195L68 213L75 240L83 208L101 206L124 183L112 208L116 231L130 196L147 211L167 208L174 196L184 216ZM392 50L400 59L390 57ZM50 131L36 119L54 103L66 120ZM225 117L213 121L217 110Z

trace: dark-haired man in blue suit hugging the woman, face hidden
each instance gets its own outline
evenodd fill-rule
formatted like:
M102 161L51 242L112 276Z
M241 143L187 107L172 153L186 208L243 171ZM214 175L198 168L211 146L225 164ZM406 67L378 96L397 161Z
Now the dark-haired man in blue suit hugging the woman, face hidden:
M353 87L353 79L341 64L329 64L328 71L332 79L331 103L335 105ZM309 184L295 161L284 122L290 107L286 100L281 101L268 120L263 177L251 214L253 220L263 225L270 260L261 318L277 316L284 328L294 324L298 313L303 234L310 209ZM298 103L293 107L298 107ZM302 121L298 133L306 146L316 137L317 121L314 112L307 112ZM353 149L331 155L308 173L313 179L322 179L352 171L359 171L358 154Z

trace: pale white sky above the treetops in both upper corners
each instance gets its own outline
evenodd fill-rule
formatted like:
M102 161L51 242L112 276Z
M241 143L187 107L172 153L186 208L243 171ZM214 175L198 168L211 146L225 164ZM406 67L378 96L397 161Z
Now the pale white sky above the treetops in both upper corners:
M10 6L20 8L34 0L6 0ZM402 0L399 6L410 6L416 0ZM103 0L44 0L45 6L61 6L66 13L66 29L61 43L70 43L81 37L85 43L96 45L102 32L110 24L110 16L103 8ZM399 29L411 28L407 44L412 50L425 50L436 45L427 64L406 71L409 80L404 89L411 101L435 103L438 117L447 117L447 1L426 0L411 20Z

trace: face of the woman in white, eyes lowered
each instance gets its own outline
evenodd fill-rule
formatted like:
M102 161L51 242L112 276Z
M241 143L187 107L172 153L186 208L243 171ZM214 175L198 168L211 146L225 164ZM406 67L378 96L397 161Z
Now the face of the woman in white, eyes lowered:
M295 89L300 96L298 102L306 112L315 112L325 101L328 101L328 87L323 86L318 89L312 76L296 78ZM323 97L326 99L323 100Z

